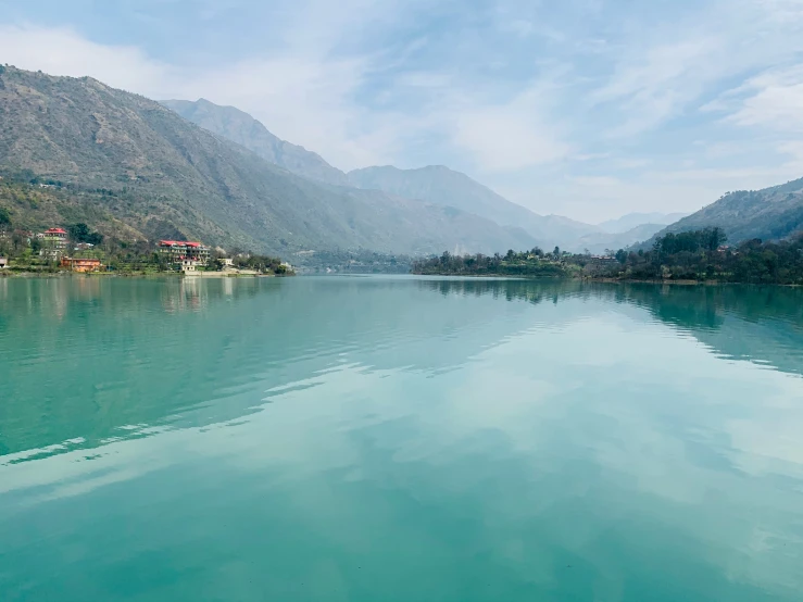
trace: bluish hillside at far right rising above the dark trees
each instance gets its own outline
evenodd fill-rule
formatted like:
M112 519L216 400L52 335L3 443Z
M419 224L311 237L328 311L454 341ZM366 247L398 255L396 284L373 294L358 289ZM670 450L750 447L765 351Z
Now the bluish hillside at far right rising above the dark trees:
M728 240L778 240L803 229L803 178L763 190L727 192L718 201L657 233L698 230L718 226Z

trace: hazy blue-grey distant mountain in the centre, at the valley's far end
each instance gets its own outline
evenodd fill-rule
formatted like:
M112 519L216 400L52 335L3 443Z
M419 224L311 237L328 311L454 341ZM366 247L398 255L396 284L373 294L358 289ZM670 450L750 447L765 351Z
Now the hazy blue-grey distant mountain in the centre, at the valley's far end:
M366 167L349 172L349 181L362 189L384 190L409 199L449 205L492 220L502 226L526 230L544 248L576 247L577 240L595 226L559 215L538 215L513 203L465 174L440 165L418 170L393 166Z

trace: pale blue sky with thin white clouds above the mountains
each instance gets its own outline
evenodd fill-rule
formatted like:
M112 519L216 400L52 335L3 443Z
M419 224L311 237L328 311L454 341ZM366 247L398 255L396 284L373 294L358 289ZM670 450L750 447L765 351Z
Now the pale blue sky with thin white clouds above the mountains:
M237 106L542 214L803 177L803 0L0 0L0 63Z

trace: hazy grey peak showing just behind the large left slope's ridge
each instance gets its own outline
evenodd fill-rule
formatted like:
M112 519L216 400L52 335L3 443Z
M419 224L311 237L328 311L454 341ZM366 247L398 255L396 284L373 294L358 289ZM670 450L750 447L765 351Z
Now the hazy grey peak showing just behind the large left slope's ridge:
M326 184L349 186L346 174L329 165L319 154L281 140L271 134L262 123L239 109L221 106L203 98L195 102L189 100L160 102L185 120L246 147L288 172Z

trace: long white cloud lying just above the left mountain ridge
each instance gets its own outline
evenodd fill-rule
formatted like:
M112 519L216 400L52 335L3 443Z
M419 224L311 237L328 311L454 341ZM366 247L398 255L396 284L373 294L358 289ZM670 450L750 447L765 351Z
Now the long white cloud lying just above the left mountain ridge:
M227 67L181 68L137 48L91 42L65 28L0 27L0 55L15 66L52 75L90 75L154 99L206 98L235 105L277 136L323 154L341 168L388 163L393 122L372 118L351 97L367 59L285 53Z

